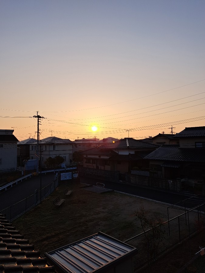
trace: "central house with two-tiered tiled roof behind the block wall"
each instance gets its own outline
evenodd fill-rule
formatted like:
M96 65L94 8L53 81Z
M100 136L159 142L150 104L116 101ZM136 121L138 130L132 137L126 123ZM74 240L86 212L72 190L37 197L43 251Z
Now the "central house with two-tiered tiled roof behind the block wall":
M143 157L157 147L152 143L124 138L81 152L84 155L83 167L124 174L133 167L149 167L149 161Z

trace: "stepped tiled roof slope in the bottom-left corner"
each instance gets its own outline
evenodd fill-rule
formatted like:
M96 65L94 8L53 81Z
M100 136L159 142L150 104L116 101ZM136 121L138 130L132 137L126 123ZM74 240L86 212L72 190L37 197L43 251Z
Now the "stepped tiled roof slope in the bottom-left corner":
M0 272L1 273L54 273L54 266L48 266L40 251L34 250L19 231L0 214Z

